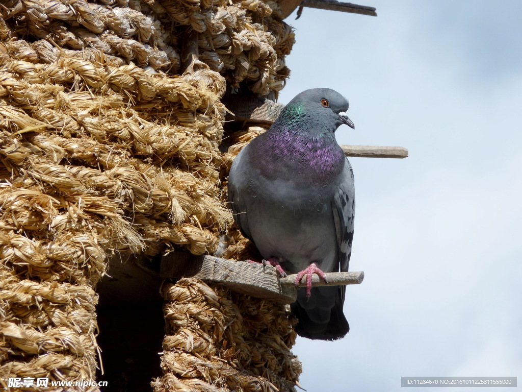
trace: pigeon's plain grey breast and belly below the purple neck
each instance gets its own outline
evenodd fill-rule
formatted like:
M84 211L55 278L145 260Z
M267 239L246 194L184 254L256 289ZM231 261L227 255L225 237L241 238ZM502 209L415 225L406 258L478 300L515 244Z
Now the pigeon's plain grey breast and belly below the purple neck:
M243 160L245 155L243 150L236 159ZM331 188L305 188L291 180L267 179L248 162L234 162L234 166L229 179L234 199L238 199L234 212L241 214L238 224L261 255L279 258L290 273L302 271L312 262L322 270L336 269Z

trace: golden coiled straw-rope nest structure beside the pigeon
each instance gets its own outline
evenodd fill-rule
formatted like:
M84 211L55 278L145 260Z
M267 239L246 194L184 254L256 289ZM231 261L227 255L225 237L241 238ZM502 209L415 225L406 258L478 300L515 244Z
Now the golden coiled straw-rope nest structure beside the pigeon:
M277 95L293 42L270 0L1 2L0 385L94 379L111 256L213 253L227 228L246 255L221 183L245 140L219 152L221 98ZM155 391L293 390L282 305L196 280L162 293Z

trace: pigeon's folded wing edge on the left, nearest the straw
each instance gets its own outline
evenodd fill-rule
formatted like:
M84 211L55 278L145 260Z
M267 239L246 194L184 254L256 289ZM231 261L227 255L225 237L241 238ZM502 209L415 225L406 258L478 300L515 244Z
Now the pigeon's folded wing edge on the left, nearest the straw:
M250 227L248 226L248 218L246 214L246 172L245 172L245 150L243 148L238 156L235 157L228 178L228 200L234 215L234 221L241 230L241 234L245 238L252 240Z

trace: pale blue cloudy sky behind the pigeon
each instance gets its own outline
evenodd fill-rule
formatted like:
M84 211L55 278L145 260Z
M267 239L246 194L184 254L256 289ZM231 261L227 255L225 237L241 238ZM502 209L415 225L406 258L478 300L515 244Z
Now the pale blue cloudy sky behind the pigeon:
M298 338L300 385L399 391L401 376L522 383L522 2L372 0L378 17L305 8L279 101L330 87L350 101L355 235L347 337ZM437 392L443 388L412 390ZM470 390L467 388L465 390ZM518 390L518 388L480 388Z

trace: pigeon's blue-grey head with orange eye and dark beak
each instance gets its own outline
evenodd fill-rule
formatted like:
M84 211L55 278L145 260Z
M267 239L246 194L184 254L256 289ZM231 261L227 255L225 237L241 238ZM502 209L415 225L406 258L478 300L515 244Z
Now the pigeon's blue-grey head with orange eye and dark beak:
M299 106L309 116L314 116L324 122L339 125L346 124L355 129L353 122L348 118L348 100L330 88L312 88L304 90L288 103L289 107Z

